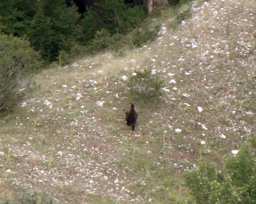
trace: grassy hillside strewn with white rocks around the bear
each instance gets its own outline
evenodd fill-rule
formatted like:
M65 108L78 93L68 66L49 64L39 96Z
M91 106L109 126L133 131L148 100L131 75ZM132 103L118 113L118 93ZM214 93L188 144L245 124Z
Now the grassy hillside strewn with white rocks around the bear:
M151 17L163 23L158 39L124 57L36 75L35 93L0 121L0 200L35 190L38 203L185 203L184 171L200 157L221 166L255 137L255 11L250 0L193 2L176 17ZM132 101L131 131L122 77L143 69L157 70L164 90L155 102Z

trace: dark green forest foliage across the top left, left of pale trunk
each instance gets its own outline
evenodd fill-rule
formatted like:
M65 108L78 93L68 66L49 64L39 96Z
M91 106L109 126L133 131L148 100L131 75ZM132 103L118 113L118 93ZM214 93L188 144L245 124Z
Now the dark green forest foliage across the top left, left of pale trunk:
M0 7L0 31L26 36L46 63L60 59L61 51L70 54L77 46L88 46L89 53L89 48L102 51L112 44L99 44L106 37L131 32L146 17L142 6L122 0L101 1L83 15L66 0L7 0Z

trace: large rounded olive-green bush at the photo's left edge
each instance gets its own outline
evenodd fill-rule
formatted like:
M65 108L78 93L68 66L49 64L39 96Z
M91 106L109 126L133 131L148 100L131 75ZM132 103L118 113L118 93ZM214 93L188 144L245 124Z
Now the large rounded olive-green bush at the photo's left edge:
M28 93L31 71L40 67L39 54L22 38L0 34L0 112Z

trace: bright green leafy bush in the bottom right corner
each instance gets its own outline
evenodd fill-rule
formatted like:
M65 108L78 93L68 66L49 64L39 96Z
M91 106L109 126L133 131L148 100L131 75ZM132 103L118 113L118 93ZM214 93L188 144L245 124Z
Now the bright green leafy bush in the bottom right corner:
M245 143L236 155L226 156L222 171L201 159L184 180L197 204L256 203L255 145Z

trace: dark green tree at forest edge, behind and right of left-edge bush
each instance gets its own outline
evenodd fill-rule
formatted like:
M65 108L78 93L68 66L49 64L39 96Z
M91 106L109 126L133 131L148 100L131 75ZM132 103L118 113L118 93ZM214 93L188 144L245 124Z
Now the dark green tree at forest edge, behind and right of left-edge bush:
M77 7L65 0L41 0L28 37L31 45L47 61L57 60L61 50L69 51L82 37ZM54 9L53 9L54 8Z

